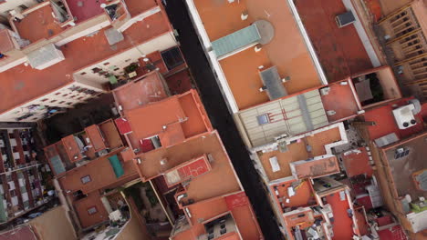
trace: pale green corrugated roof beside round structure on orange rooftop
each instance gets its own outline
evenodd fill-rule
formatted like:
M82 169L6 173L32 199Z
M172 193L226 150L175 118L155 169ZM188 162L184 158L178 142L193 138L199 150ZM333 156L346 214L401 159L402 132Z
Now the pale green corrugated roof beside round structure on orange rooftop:
M213 41L212 48L216 56L220 57L243 48L246 45L252 45L260 39L261 35L259 35L256 25L249 25L231 35L225 35Z

